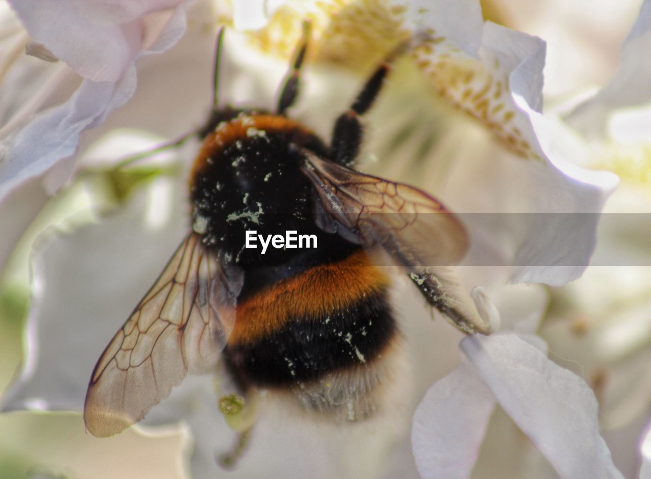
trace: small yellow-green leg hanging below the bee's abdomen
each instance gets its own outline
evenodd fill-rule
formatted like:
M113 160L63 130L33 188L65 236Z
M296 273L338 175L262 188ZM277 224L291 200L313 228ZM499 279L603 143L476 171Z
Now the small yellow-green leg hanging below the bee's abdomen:
M222 467L234 467L247 448L251 430L257 418L256 392L247 394L247 399L238 394L229 394L219 399L219 411L227 424L237 433L233 447L217 455L217 463Z

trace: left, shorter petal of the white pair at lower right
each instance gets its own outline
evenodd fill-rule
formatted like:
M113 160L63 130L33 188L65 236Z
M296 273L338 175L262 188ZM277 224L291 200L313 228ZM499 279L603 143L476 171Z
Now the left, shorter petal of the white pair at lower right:
M467 364L437 381L413 416L411 444L422 478L469 477L494 408L492 392Z

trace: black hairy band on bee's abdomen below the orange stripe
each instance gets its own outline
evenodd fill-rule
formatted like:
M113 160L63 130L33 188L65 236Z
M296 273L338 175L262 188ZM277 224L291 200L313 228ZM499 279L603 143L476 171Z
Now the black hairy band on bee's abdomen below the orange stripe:
M244 388L286 387L341 370L366 368L396 334L387 292L378 291L346 308L290 319L256 341L229 343L224 354Z

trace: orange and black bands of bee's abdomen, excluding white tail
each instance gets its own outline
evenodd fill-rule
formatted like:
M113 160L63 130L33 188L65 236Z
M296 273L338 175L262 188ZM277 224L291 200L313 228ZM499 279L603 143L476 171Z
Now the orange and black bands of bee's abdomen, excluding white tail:
M267 287L238 305L227 364L244 386L260 387L368 368L397 333L388 286L357 250Z

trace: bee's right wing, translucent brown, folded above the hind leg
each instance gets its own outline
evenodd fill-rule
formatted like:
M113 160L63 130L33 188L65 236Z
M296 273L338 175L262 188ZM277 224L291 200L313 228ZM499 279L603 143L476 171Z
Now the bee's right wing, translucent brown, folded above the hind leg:
M408 269L461 261L464 226L439 201L406 184L365 175L309 151L303 171L326 212L367 247L382 246ZM337 225L339 227L339 225Z

